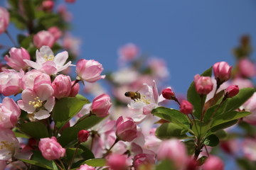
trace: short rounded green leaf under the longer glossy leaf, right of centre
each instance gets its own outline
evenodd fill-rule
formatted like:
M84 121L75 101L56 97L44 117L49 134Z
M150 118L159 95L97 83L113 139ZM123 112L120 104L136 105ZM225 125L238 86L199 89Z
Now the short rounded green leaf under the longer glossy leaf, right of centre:
M183 139L188 137L183 133L183 128L174 123L164 123L159 128L156 129L156 137L159 139L170 139L171 137L176 137L178 139Z

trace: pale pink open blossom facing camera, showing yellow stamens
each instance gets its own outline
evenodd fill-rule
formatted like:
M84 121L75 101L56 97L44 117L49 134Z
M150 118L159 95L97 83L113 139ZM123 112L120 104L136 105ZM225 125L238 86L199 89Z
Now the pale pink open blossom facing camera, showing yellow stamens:
M33 89L22 91L18 106L27 113L33 113L38 120L48 118L55 105L53 88L50 84L36 84Z

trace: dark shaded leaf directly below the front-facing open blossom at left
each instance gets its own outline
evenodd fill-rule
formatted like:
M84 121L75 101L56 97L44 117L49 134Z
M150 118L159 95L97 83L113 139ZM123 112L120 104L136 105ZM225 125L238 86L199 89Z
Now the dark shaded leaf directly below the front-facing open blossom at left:
M30 137L43 138L49 137L46 125L41 122L28 122L18 126L18 128Z

